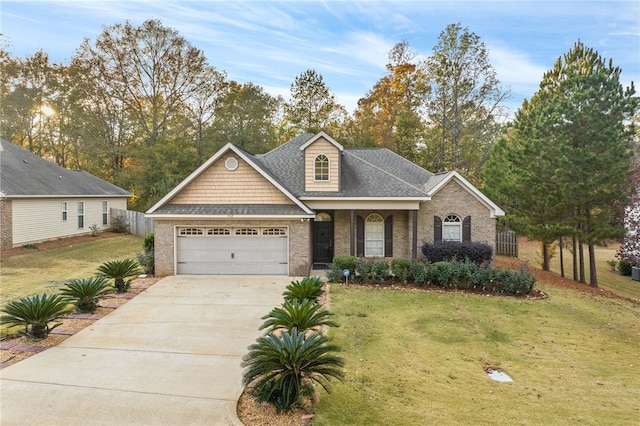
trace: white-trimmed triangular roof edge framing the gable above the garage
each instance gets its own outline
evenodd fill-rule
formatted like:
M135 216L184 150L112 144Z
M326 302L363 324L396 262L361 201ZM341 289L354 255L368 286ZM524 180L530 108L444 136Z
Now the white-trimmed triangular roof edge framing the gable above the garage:
M247 164L249 164L251 167L253 167L267 181L269 181L271 184L273 184L287 198L289 198L297 206L297 209L295 209L295 214L313 215L313 211L310 210L307 206L305 206L295 196L293 196L289 192L289 190L286 187L284 187L280 182L278 182L278 180L275 179L271 175L271 173L269 173L269 170L266 169L259 161L257 161L256 156L254 156L253 154L248 153L247 151L245 151L245 150L243 150L243 149L241 149L241 148L239 148L239 147L237 147L237 146L235 146L235 145L233 145L231 143L226 144L218 152L216 152L211 158L209 158L206 162L204 162L204 164L202 164L193 173L191 173L189 176L187 176L182 182L180 182L180 184L178 184L178 186L173 188L173 190L171 192L169 192L160 201L158 201L153 207L151 207L147 211L147 214L153 214L153 215L162 215L162 214L180 214L180 215L203 214L202 210L200 210L200 213L191 212L189 209L193 208L193 206L190 206L190 205L175 205L175 204L173 204L172 205L173 207L169 207L171 205L170 204L171 199L173 197L175 197L180 191L182 191L187 185L189 185L191 182L193 182L195 179L197 179L198 176L200 176L213 163L215 163L220 157L222 157L223 155L225 155L229 151L233 151L237 156L242 158ZM181 206L181 207L178 207L178 206ZM229 206L226 206L224 208L229 208ZM220 210L220 209L218 209L218 210ZM218 215L221 214L218 210L216 210L215 212L214 211L210 211L209 214L218 214ZM280 213L279 215L292 214L291 213L291 209L281 209L281 211L279 213ZM264 212L261 212L261 211L249 212L249 211L245 210L245 214L260 215L260 214L264 214Z

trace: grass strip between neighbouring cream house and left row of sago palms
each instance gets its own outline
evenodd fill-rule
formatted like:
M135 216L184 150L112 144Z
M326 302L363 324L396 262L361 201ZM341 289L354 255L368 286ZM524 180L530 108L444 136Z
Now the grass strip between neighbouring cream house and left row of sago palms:
M11 300L55 293L74 278L95 275L103 262L142 253L142 238L123 235L2 259L0 306Z

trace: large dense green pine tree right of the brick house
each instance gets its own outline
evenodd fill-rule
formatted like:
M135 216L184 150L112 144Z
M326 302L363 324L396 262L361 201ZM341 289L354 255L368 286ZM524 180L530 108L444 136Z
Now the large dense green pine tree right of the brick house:
M533 236L536 229L547 238L572 235L581 265L587 244L592 286L598 284L595 245L621 236L617 209L629 193L634 129L628 123L638 98L633 84L623 89L620 72L577 42L523 103L514 132L486 171L487 187L512 200ZM498 182L501 169L511 182Z

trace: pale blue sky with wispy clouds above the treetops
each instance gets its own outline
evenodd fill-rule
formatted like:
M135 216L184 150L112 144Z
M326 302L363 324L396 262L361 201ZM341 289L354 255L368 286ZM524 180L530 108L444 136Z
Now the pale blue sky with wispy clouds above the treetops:
M229 80L289 99L307 69L321 74L352 112L385 73L388 53L407 41L426 58L447 25L480 37L511 114L545 71L580 40L640 83L640 1L179 1L0 0L0 33L14 57L38 50L69 63L104 26L159 19L202 50Z

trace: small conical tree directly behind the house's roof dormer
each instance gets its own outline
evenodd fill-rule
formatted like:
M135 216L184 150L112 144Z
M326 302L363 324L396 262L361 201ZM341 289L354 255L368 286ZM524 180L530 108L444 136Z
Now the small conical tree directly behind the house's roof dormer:
M286 137L321 130L334 133L346 114L322 75L308 69L296 77L291 85L291 101L284 105Z

